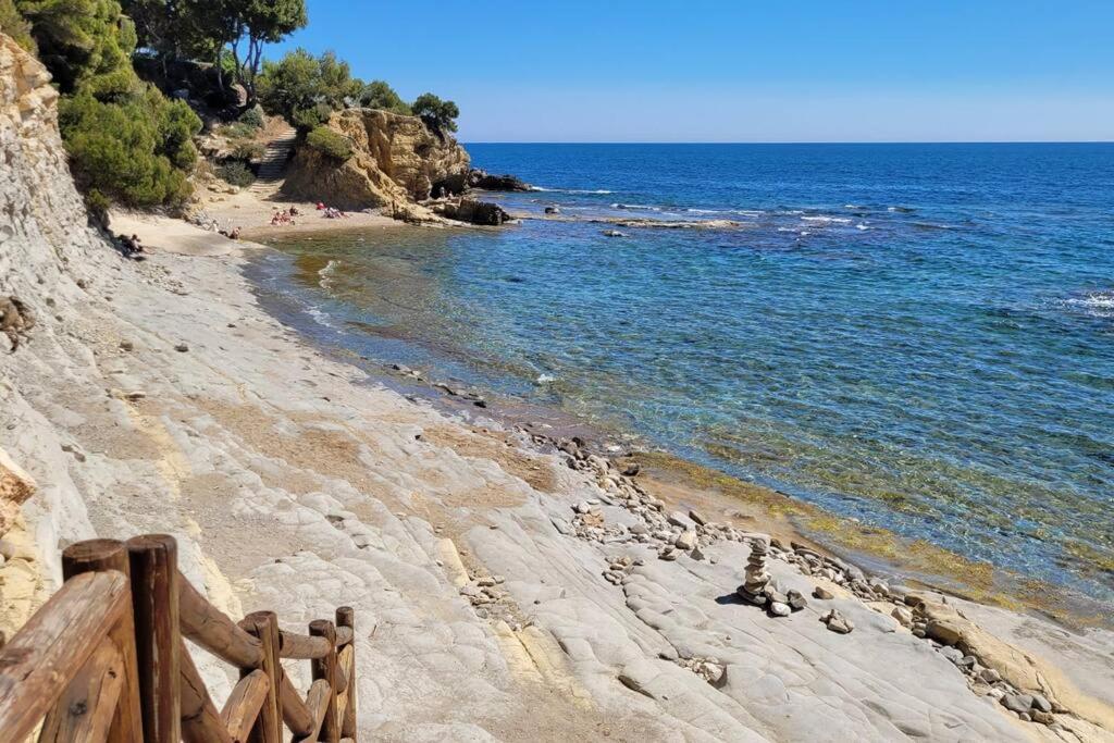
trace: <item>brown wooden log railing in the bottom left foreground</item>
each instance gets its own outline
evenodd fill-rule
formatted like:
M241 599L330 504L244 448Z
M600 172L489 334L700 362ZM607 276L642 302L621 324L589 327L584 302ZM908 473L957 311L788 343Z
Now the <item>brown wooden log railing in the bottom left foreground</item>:
M166 535L94 539L62 553L66 583L0 651L0 741L278 743L356 740L352 609L307 635L273 612L238 624L177 567ZM240 671L217 710L185 644ZM310 661L303 698L283 658Z

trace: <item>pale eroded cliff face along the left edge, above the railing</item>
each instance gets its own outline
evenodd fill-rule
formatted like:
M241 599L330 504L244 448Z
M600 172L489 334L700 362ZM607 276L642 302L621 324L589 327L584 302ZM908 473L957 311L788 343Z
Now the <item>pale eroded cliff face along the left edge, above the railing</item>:
M74 272L96 271L106 258L70 179L57 102L46 68L0 33L0 314L8 325L4 307L10 312L14 297L27 317L39 319L18 353L0 333L0 630L9 636L45 598L51 574L57 577L57 565L40 565L35 544L56 545L60 534L87 526L61 444L35 410L33 388L17 381L41 380L39 389L68 383L49 358L27 353L27 344L49 342L59 326L53 317L70 315L62 307L84 305L84 280ZM26 471L52 466L61 476L42 487Z

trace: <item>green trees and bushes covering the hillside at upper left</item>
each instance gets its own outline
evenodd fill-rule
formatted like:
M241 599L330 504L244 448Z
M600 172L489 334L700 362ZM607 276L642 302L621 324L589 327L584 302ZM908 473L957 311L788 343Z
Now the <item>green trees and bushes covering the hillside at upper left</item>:
M38 53L62 94L59 127L70 168L95 212L111 203L174 206L189 195L201 119L140 79L134 66L140 57L144 75L167 89L177 79L167 71L179 62L215 77L217 91L233 80L243 86L232 114L222 113L232 121L224 127L236 144L232 159L242 165L225 172L233 180L246 180L247 164L260 156L254 138L263 109L335 159L351 156L351 143L321 125L343 108L412 114L441 136L456 131L460 111L452 101L423 94L408 105L385 81L353 77L333 52L297 49L263 60L267 43L306 22L305 0L0 0L0 30Z

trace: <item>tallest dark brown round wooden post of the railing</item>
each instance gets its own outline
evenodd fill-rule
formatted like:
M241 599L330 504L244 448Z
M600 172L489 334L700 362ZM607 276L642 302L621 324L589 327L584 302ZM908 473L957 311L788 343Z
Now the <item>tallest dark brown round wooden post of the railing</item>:
M165 534L127 541L146 743L182 741L178 545Z

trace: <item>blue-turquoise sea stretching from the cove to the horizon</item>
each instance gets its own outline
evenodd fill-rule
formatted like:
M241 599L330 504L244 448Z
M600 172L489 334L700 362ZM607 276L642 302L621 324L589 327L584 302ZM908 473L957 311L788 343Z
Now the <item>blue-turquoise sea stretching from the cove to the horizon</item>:
M569 221L282 245L305 332L1114 599L1114 146L472 145ZM725 228L590 219L727 219Z

